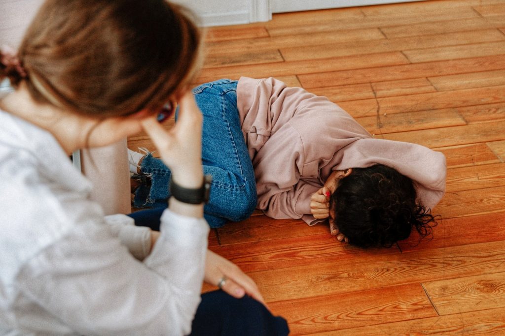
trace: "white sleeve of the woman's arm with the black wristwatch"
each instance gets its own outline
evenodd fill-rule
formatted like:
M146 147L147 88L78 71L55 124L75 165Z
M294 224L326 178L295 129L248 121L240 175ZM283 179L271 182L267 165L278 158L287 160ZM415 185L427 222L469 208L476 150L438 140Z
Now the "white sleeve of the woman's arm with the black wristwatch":
M27 262L20 290L80 334L187 334L200 302L209 226L166 210L143 262L105 224L77 225Z

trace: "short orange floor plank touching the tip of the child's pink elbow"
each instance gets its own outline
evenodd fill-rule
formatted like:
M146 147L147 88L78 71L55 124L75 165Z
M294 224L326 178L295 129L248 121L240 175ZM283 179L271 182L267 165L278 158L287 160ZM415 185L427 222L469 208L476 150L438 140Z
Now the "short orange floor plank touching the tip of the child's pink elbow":
M485 143L434 148L445 155L447 168L498 163L500 160Z

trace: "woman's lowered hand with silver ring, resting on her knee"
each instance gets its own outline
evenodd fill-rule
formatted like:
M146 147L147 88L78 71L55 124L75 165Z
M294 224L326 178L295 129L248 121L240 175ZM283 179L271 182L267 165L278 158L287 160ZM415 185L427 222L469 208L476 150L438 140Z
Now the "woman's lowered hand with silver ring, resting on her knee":
M224 284L221 286L223 291L235 298L241 298L247 294L265 305L265 300L254 280L249 278L230 260L207 250L204 281L217 286L223 277L225 279Z

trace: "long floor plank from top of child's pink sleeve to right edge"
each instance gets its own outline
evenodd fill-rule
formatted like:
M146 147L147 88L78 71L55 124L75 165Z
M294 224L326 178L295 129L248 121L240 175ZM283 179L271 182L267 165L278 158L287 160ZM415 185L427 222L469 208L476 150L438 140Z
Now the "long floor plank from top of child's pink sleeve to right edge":
M406 141L428 148L475 144L503 140L505 121L482 122L465 126L412 130L407 132L388 133L384 139Z

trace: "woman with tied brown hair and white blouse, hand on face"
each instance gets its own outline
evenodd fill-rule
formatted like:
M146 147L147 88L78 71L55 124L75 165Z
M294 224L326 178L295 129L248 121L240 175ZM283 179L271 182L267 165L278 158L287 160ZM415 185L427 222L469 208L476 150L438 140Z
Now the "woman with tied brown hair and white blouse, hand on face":
M254 281L207 250L202 117L187 92L199 41L163 0L48 0L19 50L0 53L12 88L0 93L0 334L287 333ZM157 116L171 102L167 131ZM141 130L174 190L194 195L173 193L160 232L104 216L68 160ZM203 280L223 291L200 298Z

